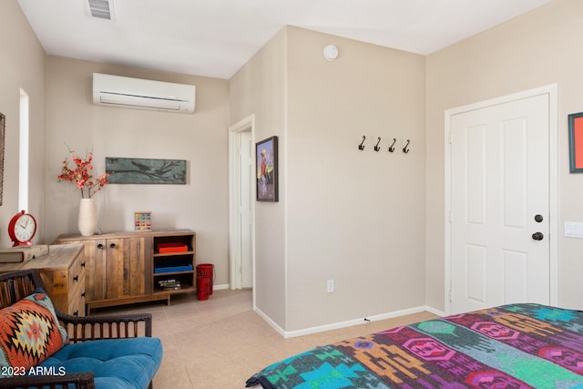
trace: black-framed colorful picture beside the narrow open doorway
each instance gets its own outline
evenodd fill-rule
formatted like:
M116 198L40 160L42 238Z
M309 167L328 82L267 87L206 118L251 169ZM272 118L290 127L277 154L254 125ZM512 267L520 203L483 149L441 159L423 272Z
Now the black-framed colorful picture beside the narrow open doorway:
M278 200L277 137L255 144L257 200Z

